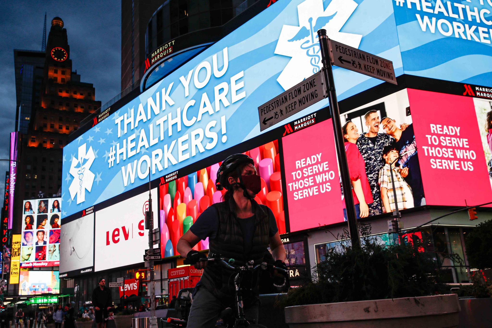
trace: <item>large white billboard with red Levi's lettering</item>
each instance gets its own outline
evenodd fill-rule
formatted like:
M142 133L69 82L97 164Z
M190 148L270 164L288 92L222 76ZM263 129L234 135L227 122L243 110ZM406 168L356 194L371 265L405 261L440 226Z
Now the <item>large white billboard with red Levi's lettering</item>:
M152 190L157 199L157 189ZM142 263L149 248L149 230L145 229L145 214L149 209L149 193L131 197L95 213L94 270L119 268ZM158 211L154 211L154 227L158 226Z

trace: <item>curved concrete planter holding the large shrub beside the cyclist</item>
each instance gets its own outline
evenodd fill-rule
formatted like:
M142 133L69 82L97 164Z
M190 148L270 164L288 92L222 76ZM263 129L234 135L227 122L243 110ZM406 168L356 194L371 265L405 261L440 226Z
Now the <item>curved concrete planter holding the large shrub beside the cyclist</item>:
M456 294L289 306L290 328L457 327Z

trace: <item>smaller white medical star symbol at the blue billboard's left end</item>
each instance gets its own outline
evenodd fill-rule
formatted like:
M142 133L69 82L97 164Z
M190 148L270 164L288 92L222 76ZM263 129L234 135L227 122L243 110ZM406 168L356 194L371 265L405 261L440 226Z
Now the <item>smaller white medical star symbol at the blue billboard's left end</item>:
M86 151L86 148L87 144L80 146L77 157L74 156L70 164L69 172L73 180L68 187L68 191L72 200L77 195L77 204L86 200L86 190L91 192L92 183L94 183L94 174L90 168L95 159L95 154L92 147L89 147L88 151Z

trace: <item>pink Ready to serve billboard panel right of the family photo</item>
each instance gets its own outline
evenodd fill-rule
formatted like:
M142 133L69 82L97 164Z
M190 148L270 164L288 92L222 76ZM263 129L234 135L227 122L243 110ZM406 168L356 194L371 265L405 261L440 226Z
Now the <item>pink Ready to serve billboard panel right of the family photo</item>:
M485 131L490 105L487 110L480 99L415 89L408 89L408 99L426 203L470 206L492 201L491 158L484 153L491 146Z

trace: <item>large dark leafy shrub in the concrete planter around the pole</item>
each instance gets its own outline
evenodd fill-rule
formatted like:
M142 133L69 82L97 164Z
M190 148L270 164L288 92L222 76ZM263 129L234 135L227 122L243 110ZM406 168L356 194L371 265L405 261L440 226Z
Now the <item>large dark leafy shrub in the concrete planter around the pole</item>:
M347 241L327 251L326 260L302 286L279 297L277 306L332 303L383 298L447 294L441 270L425 251L422 241L413 244L381 245L370 237L370 225L360 226L363 245L352 248ZM348 238L345 232L340 239ZM461 263L457 254L440 254Z

